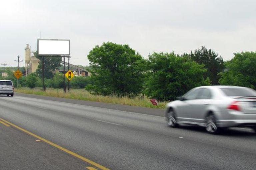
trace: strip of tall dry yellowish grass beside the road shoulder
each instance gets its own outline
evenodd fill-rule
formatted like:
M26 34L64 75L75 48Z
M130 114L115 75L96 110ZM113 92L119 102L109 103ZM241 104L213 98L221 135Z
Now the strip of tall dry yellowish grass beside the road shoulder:
M156 106L153 106L149 101L149 99L146 97L128 98L128 97L92 95L88 93L85 89L70 89L70 93L68 92L64 93L63 89L47 88L46 91L44 92L40 88L30 89L30 88L22 87L22 88L16 88L15 92L68 98L68 99L94 101L94 102L121 104L121 105L129 105L129 106L157 108ZM158 107L160 109L164 109L167 102L158 102L158 104L159 104Z

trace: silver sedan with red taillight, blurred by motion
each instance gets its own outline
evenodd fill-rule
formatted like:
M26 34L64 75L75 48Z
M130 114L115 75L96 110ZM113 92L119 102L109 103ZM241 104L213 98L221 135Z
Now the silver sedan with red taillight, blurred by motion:
M168 126L205 127L216 134L221 128L250 127L256 131L256 91L238 86L202 86L167 104Z

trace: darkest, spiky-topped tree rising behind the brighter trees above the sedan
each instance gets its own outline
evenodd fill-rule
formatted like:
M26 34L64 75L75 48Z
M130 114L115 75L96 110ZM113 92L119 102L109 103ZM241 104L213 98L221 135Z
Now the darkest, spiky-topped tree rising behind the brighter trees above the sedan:
M224 69L224 61L219 54L202 46L201 49L197 49L194 52L191 51L189 58L199 64L204 64L205 68L207 68L204 78L209 77L212 85L219 84L218 73Z

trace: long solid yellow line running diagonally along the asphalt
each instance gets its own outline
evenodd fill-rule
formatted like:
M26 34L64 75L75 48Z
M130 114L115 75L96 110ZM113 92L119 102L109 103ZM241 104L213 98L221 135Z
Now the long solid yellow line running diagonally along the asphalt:
M97 167L97 168L100 168L100 169L102 169L102 170L110 170L110 169L108 169L108 168L106 168L106 167L104 167L104 166L102 166L102 165L100 165L100 164L97 164L96 162L93 162L93 161L91 161L91 160L89 160L89 159L87 159L87 158L85 158L85 157L83 157L83 156L81 156L81 155L78 155L78 154L75 153L75 152L72 152L72 151L70 151L70 150L68 150L68 149L66 149L66 148L64 148L64 147L61 147L61 146L59 146L59 145L57 145L57 144L55 144L55 143L53 143L53 142L51 142L51 141L49 141L49 140L47 140L47 139L45 139L45 138L42 138L42 137L40 137L40 136L38 136L38 135L36 135L36 134L34 134L34 133L32 133L32 132L26 130L26 129L23 129L23 128L21 128L21 127L18 127L17 125L14 125L14 124L12 124L12 123L10 123L10 122L4 120L4 119L1 119L1 118L0 118L0 120L3 121L3 122L5 122L5 123L7 123L7 124L10 124L11 126L17 128L17 129L19 129L19 130L21 130L21 131L24 131L25 133L28 133L28 134L34 136L34 137L36 137L36 138L38 138L38 139L40 139L40 140L42 140L42 141L44 141L44 142L46 142L46 143L48 143L48 144L54 146L54 147L56 147L56 148L58 148L58 149L60 149L60 150L62 150L62 151L64 151L64 152L66 152L66 153L69 153L69 154L71 154L71 155L73 155L73 156L75 156L75 157L77 157L77 158L79 158L79 159L82 159L83 161L85 161L85 162L87 162L87 163L89 163L89 164L91 164L91 165L94 165L94 166Z

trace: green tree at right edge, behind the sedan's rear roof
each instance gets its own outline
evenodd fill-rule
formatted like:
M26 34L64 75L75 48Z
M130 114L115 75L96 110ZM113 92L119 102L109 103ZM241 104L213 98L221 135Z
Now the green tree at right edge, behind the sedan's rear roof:
M233 59L225 63L225 71L219 73L219 83L256 89L256 52L241 52L234 55Z

